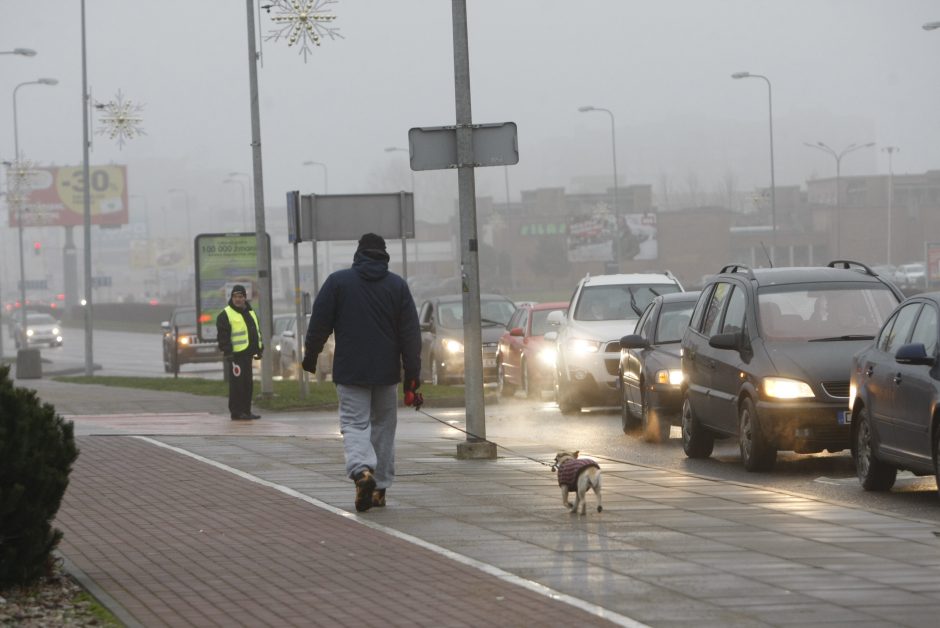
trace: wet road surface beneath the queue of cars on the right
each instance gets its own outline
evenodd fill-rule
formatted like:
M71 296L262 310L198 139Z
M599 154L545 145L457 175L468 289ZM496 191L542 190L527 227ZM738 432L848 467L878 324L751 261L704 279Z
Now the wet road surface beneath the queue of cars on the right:
M553 402L528 401L519 397L487 406L486 428L487 438L497 443L501 438L532 440L558 450L577 449L633 464L741 482L940 523L940 499L932 476L915 477L899 473L890 492L866 492L858 483L848 450L836 454L779 452L772 472L751 473L741 465L735 439L716 441L711 457L693 460L687 458L682 450L678 427L672 428L668 442L647 443L638 433L623 433L620 414L615 409L596 408L566 417Z

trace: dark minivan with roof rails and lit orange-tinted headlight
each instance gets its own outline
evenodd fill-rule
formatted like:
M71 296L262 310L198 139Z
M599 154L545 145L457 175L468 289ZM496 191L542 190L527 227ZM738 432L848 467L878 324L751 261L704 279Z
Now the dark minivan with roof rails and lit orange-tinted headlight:
M711 455L738 437L748 471L777 451L841 451L850 444L852 356L903 299L867 266L751 269L711 277L682 338L682 445Z

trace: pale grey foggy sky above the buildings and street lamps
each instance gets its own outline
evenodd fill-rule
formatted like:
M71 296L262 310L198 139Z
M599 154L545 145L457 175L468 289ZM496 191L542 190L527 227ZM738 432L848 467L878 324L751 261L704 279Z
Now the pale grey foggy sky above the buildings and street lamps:
M833 176L837 150L877 142L901 148L896 173L940 168L940 20L930 0L469 0L473 120L518 125L520 189L566 187L611 173L616 118L621 185L667 179L705 190L733 173L742 191L769 185L767 88L773 84L777 185ZM291 189L331 193L408 189L411 127L453 124L451 3L340 0L344 39L325 40L305 64L299 48L265 41L259 70L266 203ZM243 0L87 0L88 75L96 100L145 105L146 136L123 150L95 137L95 164L125 163L133 195L151 207L240 203L228 172L251 172L246 5ZM55 87L18 94L19 140L41 165L81 163L79 2L0 0L0 158L13 157L12 91L39 77ZM272 25L262 12L257 26ZM4 95L5 94L5 95ZM842 173L887 172L877 149L846 157ZM415 173L418 218L453 205L422 201L451 178ZM455 182L456 178L452 177ZM502 168L477 170L478 195L505 199ZM456 196L456 185L453 184ZM4 224L5 220L4 220ZM197 224L194 228L199 228Z

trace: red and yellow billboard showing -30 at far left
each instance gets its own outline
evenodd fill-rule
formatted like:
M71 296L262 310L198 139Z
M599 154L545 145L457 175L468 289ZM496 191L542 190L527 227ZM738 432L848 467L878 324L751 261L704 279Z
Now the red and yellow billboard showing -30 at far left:
M9 189L13 174L7 170ZM90 166L91 224L127 224L127 166ZM84 174L81 166L34 167L26 182L24 227L77 227L84 224ZM10 212L9 224L18 227L19 212Z

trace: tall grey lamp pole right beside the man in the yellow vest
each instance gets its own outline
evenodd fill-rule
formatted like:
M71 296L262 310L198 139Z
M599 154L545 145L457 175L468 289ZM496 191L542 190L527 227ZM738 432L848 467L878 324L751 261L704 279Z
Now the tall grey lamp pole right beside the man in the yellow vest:
M261 171L261 114L258 107L258 54L255 50L254 0L246 0L248 9L248 83L251 86L251 161L254 172L255 238L257 241L258 292L263 342L271 342L274 300L271 296L271 269L268 239L264 226L264 179ZM270 398L274 393L271 378L271 352L265 351L261 359L261 396Z

